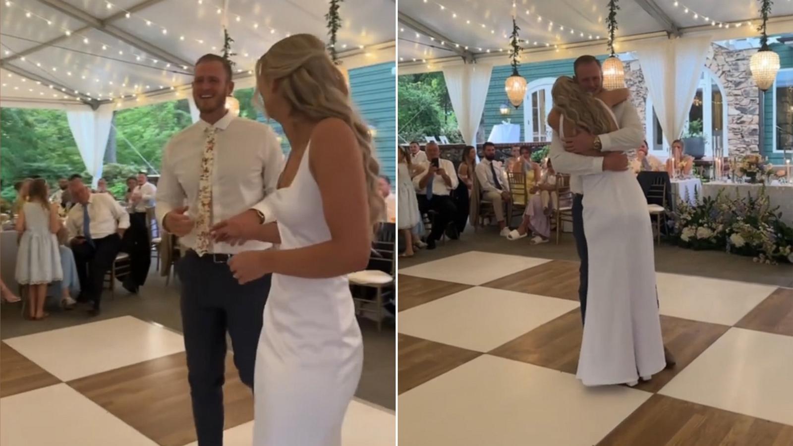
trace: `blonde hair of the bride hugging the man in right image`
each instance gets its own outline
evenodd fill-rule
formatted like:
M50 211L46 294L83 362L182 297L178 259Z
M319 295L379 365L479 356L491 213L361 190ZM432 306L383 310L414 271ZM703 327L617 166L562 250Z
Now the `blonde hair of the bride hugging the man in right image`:
M615 123L603 104L584 91L573 78L561 76L556 79L550 94L554 98L554 108L565 116L565 121L571 121L571 124L593 135L615 130Z

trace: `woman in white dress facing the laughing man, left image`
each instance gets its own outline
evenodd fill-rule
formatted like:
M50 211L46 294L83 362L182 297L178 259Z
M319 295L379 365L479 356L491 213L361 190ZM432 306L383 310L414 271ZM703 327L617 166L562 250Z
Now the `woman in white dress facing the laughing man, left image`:
M215 227L218 240L279 245L229 261L240 283L273 273L256 353L254 444L339 446L363 363L347 274L370 257L385 206L379 167L322 40L278 41L256 64L256 81L266 115L289 138L289 160L263 225Z

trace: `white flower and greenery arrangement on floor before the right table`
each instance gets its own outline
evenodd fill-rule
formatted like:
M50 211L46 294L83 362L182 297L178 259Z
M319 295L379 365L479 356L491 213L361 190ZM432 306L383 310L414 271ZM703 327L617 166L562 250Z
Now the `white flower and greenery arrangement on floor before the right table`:
M724 249L760 263L793 263L793 228L770 205L763 187L757 197L699 198L680 201L671 213L674 239L684 248Z

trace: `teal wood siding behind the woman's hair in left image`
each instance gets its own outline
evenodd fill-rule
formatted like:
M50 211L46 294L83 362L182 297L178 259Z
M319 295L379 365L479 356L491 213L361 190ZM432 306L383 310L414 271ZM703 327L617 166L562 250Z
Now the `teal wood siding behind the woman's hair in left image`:
M366 124L376 130L374 136L374 156L380 163L381 175L387 175L391 184L397 179L397 80L396 63L378 63L368 67L350 70L352 100L358 113ZM259 121L272 125L282 136L281 147L289 153L289 141L278 122L266 120L261 115Z

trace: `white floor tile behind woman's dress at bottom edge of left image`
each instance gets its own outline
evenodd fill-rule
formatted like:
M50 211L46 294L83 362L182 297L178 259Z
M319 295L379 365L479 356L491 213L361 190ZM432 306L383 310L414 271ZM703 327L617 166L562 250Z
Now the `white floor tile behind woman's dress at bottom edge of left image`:
M393 413L353 401L344 417L342 446L394 446L396 423ZM226 429L223 433L225 446L251 446L252 443L253 421ZM198 442L186 446L198 446Z

